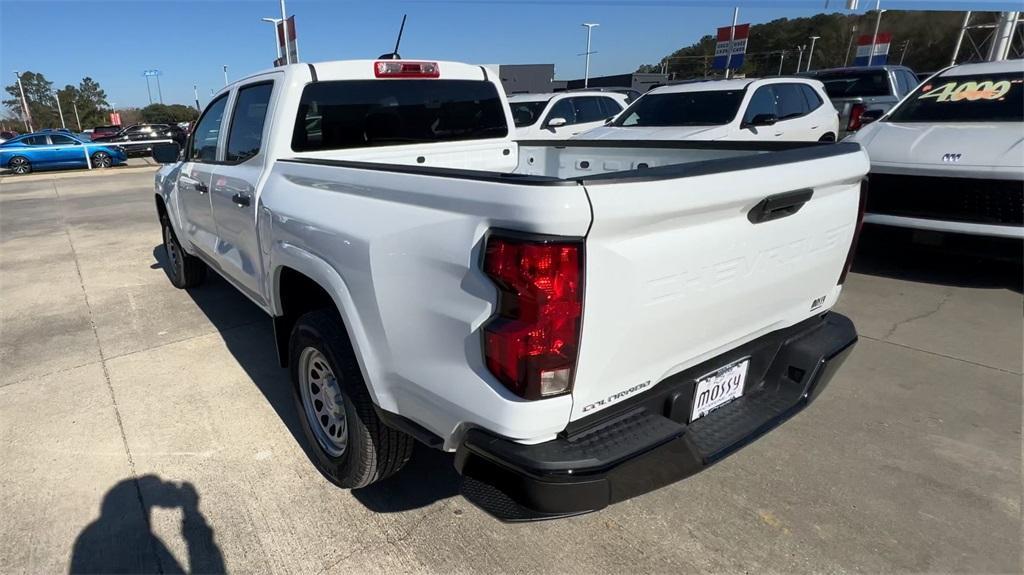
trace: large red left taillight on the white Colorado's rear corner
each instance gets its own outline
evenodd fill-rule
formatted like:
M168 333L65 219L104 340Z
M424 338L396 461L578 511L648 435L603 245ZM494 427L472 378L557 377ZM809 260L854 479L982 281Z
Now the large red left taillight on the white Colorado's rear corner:
M498 312L483 327L487 369L516 395L569 393L583 319L583 240L492 235L483 271Z

